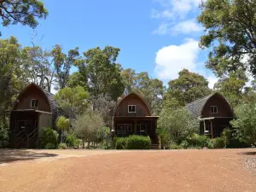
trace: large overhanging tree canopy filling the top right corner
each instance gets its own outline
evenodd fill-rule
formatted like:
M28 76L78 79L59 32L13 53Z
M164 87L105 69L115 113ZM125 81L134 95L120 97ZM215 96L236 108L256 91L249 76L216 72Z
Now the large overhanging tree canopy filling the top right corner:
M207 0L198 20L206 29L201 48L212 47L207 67L222 75L249 70L256 74L256 0Z

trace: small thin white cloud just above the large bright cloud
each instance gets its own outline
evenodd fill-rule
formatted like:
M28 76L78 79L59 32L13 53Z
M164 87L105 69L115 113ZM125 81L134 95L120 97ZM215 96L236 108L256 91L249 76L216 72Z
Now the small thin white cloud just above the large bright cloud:
M173 33L183 33L189 34L190 32L201 32L202 27L194 19L192 20L183 20L180 23L177 23L175 26L172 26Z

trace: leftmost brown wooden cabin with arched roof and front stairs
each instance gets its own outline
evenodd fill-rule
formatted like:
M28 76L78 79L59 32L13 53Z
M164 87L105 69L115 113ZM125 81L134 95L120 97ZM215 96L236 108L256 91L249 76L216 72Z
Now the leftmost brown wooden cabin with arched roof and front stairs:
M53 127L57 105L53 95L37 84L29 84L15 101L10 111L10 147L36 148L40 130Z

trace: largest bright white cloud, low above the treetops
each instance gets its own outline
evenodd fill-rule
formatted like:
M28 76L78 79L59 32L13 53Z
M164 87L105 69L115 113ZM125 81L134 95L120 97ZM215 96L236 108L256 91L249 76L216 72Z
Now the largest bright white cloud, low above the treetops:
M184 44L172 44L160 49L155 58L155 72L158 78L176 79L177 73L183 68L195 71L198 53L198 41L195 39L186 39Z

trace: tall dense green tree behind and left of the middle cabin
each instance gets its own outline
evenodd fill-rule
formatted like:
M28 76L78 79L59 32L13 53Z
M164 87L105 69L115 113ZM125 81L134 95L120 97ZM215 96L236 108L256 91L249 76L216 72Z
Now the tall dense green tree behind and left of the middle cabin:
M116 62L119 49L110 46L89 49L84 58L77 62L90 96L108 95L116 101L124 92L125 85L121 78L121 68Z

